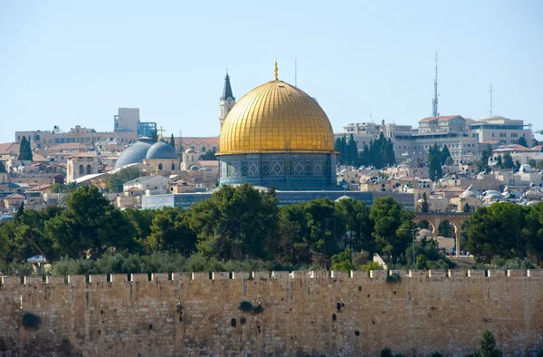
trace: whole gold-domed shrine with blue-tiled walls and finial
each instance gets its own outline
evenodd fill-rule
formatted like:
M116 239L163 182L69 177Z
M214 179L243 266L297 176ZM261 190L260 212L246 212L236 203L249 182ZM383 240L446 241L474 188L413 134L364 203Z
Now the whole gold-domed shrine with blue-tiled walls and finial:
M243 96L219 136L220 183L338 188L334 134L310 95L275 79Z

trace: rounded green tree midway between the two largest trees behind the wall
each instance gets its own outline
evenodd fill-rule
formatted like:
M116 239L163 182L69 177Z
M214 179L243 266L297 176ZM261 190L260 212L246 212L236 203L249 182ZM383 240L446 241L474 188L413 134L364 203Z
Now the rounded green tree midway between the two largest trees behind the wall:
M195 251L196 235L190 229L183 209L160 209L153 217L150 230L150 235L143 241L149 252L168 251L189 256Z

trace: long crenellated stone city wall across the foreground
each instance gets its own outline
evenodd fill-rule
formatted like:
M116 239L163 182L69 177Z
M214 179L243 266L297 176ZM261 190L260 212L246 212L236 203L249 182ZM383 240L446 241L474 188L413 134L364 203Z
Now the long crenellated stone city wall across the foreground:
M486 330L543 349L543 270L395 273L3 277L0 355L463 356Z

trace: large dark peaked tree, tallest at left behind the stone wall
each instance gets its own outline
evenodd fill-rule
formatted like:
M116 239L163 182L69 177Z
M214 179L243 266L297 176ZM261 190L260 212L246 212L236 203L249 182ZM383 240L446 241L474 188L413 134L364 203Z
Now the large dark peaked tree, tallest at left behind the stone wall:
M81 186L60 215L45 224L46 234L63 255L100 256L108 247L136 246L134 227L94 186Z

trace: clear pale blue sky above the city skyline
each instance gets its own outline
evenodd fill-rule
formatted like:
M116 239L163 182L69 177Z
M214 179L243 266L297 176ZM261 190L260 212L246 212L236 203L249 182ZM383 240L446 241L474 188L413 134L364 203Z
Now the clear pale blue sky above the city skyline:
M543 130L543 1L0 2L0 142L14 130L112 130L119 107L167 134L218 134L234 95L280 79L348 122L493 113ZM78 120L79 117L79 120Z

